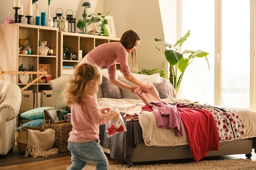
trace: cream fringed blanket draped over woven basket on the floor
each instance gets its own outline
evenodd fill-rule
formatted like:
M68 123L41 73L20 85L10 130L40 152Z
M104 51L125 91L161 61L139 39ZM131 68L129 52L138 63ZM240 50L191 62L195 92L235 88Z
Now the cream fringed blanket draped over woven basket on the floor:
M58 154L58 148L52 148L55 142L55 131L53 129L39 130L28 129L28 146L25 156L31 155L47 157Z

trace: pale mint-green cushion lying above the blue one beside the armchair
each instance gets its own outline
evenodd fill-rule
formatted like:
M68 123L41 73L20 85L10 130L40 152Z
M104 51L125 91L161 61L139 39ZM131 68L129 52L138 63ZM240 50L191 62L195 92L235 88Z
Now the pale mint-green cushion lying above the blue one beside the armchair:
M44 109L50 109L53 107L41 107L41 108L35 108L26 112L23 112L20 114L21 117L26 119L42 119L44 118ZM60 109L62 114L67 114L67 111Z

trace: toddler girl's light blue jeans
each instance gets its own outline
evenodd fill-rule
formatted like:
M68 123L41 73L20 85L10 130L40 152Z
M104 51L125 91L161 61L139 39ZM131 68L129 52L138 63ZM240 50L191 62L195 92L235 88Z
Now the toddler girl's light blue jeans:
M108 158L97 140L91 142L68 142L72 164L69 170L81 170L87 163L96 166L96 170L108 170Z

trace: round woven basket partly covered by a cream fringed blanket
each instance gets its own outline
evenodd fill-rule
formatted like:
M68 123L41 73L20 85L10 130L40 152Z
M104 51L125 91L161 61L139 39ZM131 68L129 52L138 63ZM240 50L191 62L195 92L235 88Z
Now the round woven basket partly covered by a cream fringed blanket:
M28 129L39 130L40 132L44 132L44 130L46 129L42 127L23 126L22 124L20 124L20 126L21 126L20 132L16 141L17 141L17 145L20 153L25 153L26 147L28 146Z

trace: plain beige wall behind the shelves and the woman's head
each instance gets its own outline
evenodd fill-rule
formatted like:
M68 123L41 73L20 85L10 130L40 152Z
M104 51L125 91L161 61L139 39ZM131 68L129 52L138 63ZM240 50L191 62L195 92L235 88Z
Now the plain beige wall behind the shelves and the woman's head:
M81 5L83 2L84 0L51 0L51 17L56 16L57 8L62 8L63 16L66 16L66 11L70 9L73 11L76 21L82 19L83 8ZM139 70L142 68L167 68L163 53L155 48L155 46L160 48L164 48L164 46L154 41L154 38L164 39L158 0L88 0L88 2L92 7L87 8L87 11L92 13L106 14L113 7L108 15L113 16L116 37L121 37L122 33L128 29L132 29L140 35L141 42L137 48ZM37 3L39 13L47 12L48 0L38 0ZM26 1L20 0L20 4L23 4L23 13L26 14ZM1 5L5 8L1 9L0 17L6 18L9 13L14 17L13 0L5 0ZM60 13L61 10L57 12ZM3 23L1 20L0 24ZM22 23L26 23L25 17L23 17Z

